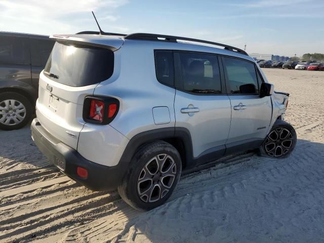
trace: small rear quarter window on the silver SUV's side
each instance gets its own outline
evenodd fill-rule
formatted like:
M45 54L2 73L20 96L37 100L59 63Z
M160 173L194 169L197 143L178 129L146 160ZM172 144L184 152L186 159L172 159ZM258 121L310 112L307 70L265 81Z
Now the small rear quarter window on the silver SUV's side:
M155 51L155 72L158 82L174 86L174 67L172 51Z

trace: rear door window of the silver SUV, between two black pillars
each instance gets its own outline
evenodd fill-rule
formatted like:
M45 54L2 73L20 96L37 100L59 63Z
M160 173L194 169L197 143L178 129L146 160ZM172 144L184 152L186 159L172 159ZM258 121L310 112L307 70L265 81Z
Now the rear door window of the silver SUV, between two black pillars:
M209 54L179 53L183 90L196 94L220 94L218 57Z

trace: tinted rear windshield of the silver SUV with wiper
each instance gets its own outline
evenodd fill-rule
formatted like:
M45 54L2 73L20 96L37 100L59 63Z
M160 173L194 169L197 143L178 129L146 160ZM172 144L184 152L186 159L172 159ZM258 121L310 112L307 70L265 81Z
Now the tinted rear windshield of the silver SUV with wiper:
M44 69L58 83L81 87L108 79L113 72L113 52L87 45L56 42Z

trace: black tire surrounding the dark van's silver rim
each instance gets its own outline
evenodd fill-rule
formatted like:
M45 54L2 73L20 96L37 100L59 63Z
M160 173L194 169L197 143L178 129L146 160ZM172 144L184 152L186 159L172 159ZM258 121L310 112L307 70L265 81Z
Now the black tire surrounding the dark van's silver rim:
M22 112L19 115L24 114L23 115L24 117L19 120L19 123L16 122L16 124L6 125L6 124L0 122L0 129L8 131L8 130L20 129L20 128L26 126L26 124L30 121L30 119L32 117L32 112L33 112L32 105L31 105L30 101L25 96L15 93L15 92L0 93L0 111L5 112L5 109L4 109L5 107L3 105L6 100L16 100L16 101L20 102L24 106L25 112ZM6 114L0 114L0 120L5 115Z

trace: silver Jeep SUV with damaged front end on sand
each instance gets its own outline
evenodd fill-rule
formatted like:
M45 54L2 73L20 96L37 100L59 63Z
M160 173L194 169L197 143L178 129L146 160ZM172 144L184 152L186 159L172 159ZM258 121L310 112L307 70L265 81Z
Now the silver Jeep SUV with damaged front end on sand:
M295 147L284 121L289 94L274 92L240 49L145 33L51 38L31 136L92 190L117 188L129 205L149 210L170 197L184 170L253 149L286 157Z

